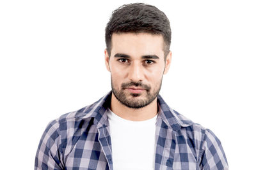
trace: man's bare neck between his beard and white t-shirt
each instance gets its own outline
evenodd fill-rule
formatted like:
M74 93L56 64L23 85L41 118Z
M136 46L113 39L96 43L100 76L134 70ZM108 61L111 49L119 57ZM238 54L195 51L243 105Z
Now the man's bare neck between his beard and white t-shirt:
M111 95L112 97L110 110L119 117L122 117L126 120L143 121L153 118L157 114L157 97L156 99L154 99L154 101L152 101L152 103L148 104L147 106L139 109L134 109L128 108L124 104L120 103L120 101L116 99L113 92Z

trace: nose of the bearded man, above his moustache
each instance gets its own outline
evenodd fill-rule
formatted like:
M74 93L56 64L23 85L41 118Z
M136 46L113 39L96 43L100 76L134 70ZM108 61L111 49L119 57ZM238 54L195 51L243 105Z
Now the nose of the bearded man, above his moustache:
M143 68L140 63L132 63L129 69L129 79L131 81L143 81Z

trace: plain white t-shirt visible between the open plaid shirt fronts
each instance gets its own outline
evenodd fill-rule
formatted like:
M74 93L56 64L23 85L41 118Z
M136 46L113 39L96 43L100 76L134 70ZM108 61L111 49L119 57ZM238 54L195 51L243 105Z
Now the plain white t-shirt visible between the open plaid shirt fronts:
M156 117L131 121L108 109L114 170L154 169Z

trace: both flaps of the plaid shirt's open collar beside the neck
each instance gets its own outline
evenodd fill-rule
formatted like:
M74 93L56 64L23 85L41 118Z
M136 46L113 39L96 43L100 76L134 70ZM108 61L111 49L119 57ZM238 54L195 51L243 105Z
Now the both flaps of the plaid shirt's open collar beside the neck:
M83 118L94 118L94 124L97 125L97 128L104 125L108 126L106 111L111 103L111 94L112 91L101 97L99 101L82 108L78 111L80 113L79 115ZM177 111L172 110L160 95L157 96L157 104L159 107L157 122L159 122L161 118L161 120L174 131L179 131L181 127L188 127L193 124L191 120L180 115Z

